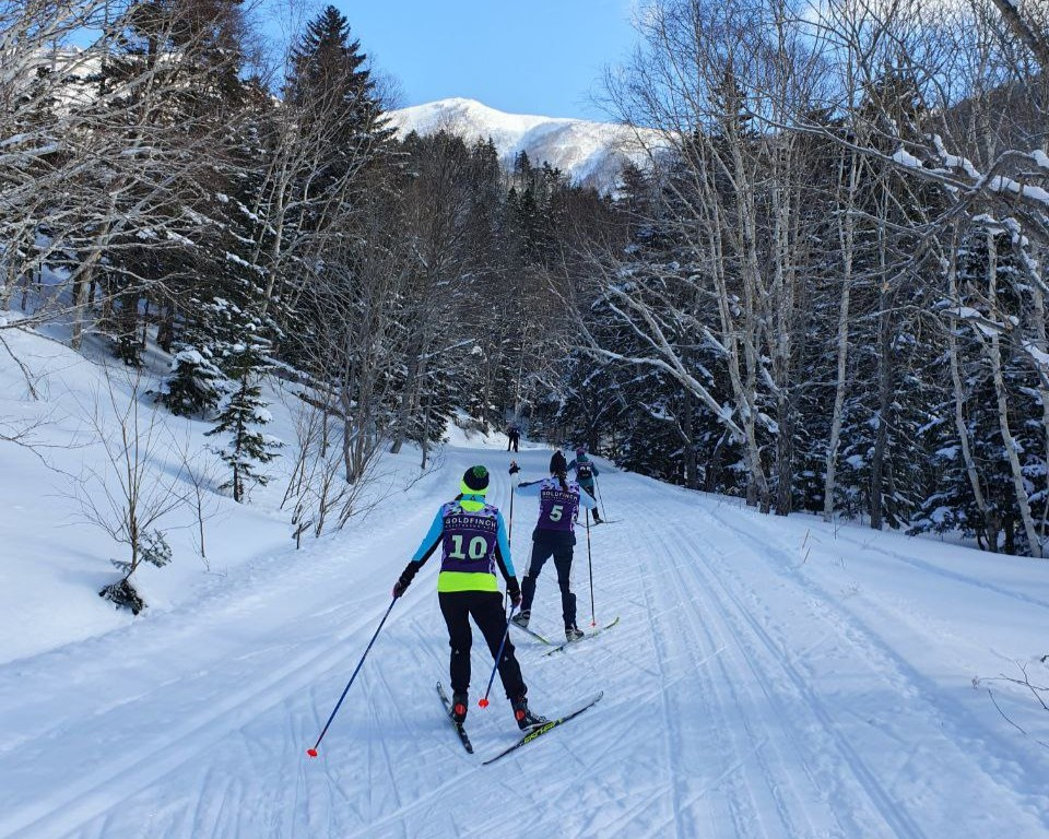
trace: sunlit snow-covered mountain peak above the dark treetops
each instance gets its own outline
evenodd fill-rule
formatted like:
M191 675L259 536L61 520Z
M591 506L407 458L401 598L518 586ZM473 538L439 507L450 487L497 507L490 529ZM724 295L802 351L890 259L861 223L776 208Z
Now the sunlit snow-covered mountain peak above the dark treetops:
M402 134L444 129L468 140L491 137L508 164L524 151L533 164L545 161L601 191L614 187L625 161L645 162L633 132L609 122L504 114L463 98L416 105L390 116Z

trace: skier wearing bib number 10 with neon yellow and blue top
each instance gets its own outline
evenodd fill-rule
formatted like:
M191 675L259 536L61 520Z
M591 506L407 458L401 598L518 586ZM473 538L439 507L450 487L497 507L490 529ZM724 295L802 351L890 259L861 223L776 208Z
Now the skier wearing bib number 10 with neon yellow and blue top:
M488 471L484 466L468 469L459 489L460 495L455 500L437 510L425 539L393 586L393 596L401 596L419 569L438 546L441 548L437 600L448 626L451 647L451 717L456 722L465 720L469 704L470 647L473 642L470 618L484 636L493 658L498 655L506 633L496 568L506 580L510 601L515 606L521 602L503 513L484 500L488 491ZM503 643L498 670L518 726L524 731L545 723L544 718L528 708L528 687L509 638Z

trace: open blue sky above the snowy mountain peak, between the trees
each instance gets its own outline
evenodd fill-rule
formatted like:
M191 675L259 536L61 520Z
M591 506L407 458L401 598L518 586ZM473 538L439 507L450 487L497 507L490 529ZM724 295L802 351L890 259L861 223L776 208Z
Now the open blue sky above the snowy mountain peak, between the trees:
M511 114L603 119L603 68L634 43L634 0L331 0L403 105L464 96Z

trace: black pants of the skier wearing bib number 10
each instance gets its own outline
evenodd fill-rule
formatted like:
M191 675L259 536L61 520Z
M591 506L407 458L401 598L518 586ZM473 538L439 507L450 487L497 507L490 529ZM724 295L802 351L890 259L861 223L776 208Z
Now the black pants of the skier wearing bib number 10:
M495 659L506 634L503 595L497 591L443 591L437 600L440 602L440 614L448 625L451 689L457 694L465 694L470 689L470 648L473 646L470 618L478 625ZM521 677L521 665L517 663L509 638L503 646L503 658L499 659L499 678L503 680L508 699L517 699L528 693Z

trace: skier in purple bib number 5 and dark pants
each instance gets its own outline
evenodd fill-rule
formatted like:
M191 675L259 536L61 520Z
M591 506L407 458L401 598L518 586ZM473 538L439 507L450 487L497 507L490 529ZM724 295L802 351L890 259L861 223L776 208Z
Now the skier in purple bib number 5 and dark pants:
M521 495L539 496L539 521L532 531L532 557L528 571L521 582L521 611L511 619L527 627L531 618L532 600L535 598L535 582L543 565L551 557L557 569L557 584L561 587L561 610L565 619L565 638L576 641L582 638L582 630L576 626L576 595L571 593L571 557L576 544L575 524L579 507L593 509L597 506L575 481L567 477L565 456L558 449L550 461L551 477L542 481L520 483L517 492Z

